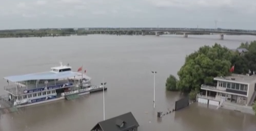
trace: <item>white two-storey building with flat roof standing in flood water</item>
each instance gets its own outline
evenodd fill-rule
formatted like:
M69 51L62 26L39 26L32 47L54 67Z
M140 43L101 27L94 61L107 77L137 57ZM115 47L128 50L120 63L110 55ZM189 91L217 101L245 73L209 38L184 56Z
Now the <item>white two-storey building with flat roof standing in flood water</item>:
M221 101L251 106L256 96L256 75L232 74L215 77L216 84L202 85L198 102L219 106Z

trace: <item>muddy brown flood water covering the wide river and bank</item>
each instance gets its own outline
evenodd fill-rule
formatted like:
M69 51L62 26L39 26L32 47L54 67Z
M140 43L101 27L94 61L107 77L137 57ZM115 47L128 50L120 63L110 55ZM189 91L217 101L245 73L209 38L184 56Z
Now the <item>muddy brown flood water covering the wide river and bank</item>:
M237 48L241 42L256 40L253 36L112 36L0 39L0 77L48 71L59 62L69 63L76 71L84 65L92 83L104 78L106 119L132 112L140 131L251 131L256 117L234 111L193 103L190 107L156 118L157 111L167 112L180 98L176 92L165 92L169 74L176 75L186 55L203 45L215 42ZM153 110L153 74L156 74L156 108ZM0 94L5 94L5 80L0 80ZM84 131L103 120L102 92L75 100L61 100L28 107L0 119L2 131Z

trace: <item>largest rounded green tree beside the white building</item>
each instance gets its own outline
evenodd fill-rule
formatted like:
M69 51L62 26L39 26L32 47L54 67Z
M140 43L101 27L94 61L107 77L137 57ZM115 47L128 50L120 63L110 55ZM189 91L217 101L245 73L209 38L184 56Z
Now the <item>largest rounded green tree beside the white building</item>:
M183 92L199 90L202 84L212 84L216 76L230 74L233 53L230 49L214 44L203 46L186 57L185 64L178 72L180 81L176 87Z

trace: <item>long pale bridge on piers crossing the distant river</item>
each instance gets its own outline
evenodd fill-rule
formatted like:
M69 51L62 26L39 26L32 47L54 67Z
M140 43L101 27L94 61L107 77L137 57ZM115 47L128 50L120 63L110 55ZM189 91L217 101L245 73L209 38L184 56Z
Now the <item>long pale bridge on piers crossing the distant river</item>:
M127 34L132 32L133 35L146 35L154 33L156 36L161 34L219 34L220 39L224 39L224 35L254 35L256 31L252 30L234 30L234 29L202 29L202 28L87 28L85 32L89 34Z

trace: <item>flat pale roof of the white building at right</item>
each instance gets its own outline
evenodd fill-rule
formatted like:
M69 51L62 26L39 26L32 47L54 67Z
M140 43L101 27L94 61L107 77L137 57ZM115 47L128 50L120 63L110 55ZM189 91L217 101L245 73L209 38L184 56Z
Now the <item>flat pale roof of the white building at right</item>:
M256 81L256 75L243 75L243 74L232 74L231 76L215 77L216 81L234 82L241 84L250 84Z

